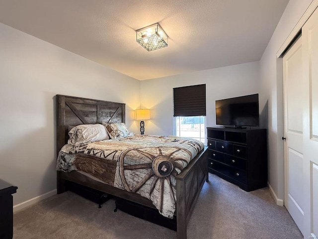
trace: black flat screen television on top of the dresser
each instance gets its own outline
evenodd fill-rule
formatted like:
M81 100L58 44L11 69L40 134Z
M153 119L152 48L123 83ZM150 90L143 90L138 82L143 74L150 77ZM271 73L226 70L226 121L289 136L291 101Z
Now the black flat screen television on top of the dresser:
M215 101L216 124L259 126L258 94Z

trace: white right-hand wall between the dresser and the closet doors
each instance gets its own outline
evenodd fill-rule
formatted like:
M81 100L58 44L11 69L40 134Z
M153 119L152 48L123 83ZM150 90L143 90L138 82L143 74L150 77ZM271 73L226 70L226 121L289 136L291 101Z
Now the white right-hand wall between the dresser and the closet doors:
M260 111L268 128L269 184L284 200L283 71L276 52L293 30L312 0L290 0L260 60ZM266 113L268 111L268 114Z

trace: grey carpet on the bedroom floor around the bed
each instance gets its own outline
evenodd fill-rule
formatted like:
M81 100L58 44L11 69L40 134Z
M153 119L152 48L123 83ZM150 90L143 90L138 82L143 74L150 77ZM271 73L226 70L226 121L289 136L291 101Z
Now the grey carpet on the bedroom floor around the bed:
M245 192L209 174L188 225L188 239L303 239L267 188ZM13 239L174 239L176 233L66 192L18 211Z

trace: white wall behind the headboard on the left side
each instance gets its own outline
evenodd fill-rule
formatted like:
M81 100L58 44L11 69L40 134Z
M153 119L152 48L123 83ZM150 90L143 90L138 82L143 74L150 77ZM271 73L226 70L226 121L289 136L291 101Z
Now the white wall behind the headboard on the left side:
M56 189L56 94L126 103L139 131L140 81L0 23L0 178L15 205Z

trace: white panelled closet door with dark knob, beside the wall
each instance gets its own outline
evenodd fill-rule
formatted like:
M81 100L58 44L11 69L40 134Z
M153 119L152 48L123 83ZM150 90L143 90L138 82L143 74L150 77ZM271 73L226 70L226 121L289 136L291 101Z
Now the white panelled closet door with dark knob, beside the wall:
M304 234L303 56L300 37L283 57L285 207Z

